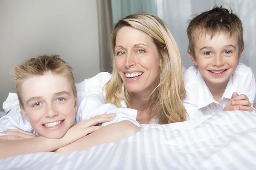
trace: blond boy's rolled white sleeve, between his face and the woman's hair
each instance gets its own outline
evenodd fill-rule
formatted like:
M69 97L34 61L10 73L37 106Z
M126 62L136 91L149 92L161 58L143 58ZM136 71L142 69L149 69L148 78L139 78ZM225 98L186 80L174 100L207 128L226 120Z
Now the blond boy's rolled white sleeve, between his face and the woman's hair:
M129 108L117 108L116 105L109 103L105 104L98 94L87 95L87 97L81 101L76 114L76 120L77 122L80 122L82 120L90 119L93 116L111 113L116 113L116 117L114 117L113 121L111 122L102 123L102 126L128 120L140 127L140 124L136 121L137 110Z

